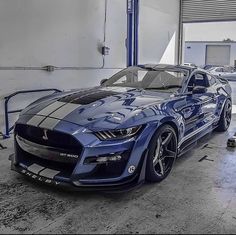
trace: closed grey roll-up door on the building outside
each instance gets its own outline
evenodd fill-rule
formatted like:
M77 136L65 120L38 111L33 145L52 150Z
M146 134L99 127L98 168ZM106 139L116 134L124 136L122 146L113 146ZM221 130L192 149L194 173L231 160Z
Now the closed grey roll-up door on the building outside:
M230 64L230 46L207 45L206 64L229 65Z

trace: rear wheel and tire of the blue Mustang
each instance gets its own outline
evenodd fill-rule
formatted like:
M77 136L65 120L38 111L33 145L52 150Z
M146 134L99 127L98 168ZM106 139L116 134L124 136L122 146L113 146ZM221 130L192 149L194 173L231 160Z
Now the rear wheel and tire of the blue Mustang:
M224 105L224 108L222 110L222 113L220 115L220 120L218 123L218 127L216 128L216 131L224 132L227 131L232 118L232 102L231 100L227 99Z

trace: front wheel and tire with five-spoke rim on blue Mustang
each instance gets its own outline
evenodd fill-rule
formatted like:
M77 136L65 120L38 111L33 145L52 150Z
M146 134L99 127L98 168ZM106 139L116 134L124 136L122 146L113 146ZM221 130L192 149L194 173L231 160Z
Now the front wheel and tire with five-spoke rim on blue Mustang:
M175 130L169 125L160 127L149 144L146 168L148 182L161 182L170 174L177 149Z

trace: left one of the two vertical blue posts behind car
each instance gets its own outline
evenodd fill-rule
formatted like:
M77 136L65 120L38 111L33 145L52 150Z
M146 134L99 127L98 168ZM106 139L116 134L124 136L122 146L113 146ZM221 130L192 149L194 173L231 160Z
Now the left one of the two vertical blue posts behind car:
M133 65L134 0L127 0L127 67Z

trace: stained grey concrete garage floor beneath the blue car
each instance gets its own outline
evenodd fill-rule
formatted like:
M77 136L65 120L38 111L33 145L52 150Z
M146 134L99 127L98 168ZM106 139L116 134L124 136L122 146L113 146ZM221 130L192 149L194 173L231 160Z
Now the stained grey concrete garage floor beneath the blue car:
M236 233L236 150L226 148L234 113L228 132L204 138L165 181L124 194L40 186L10 171L12 140L1 141L0 233Z

